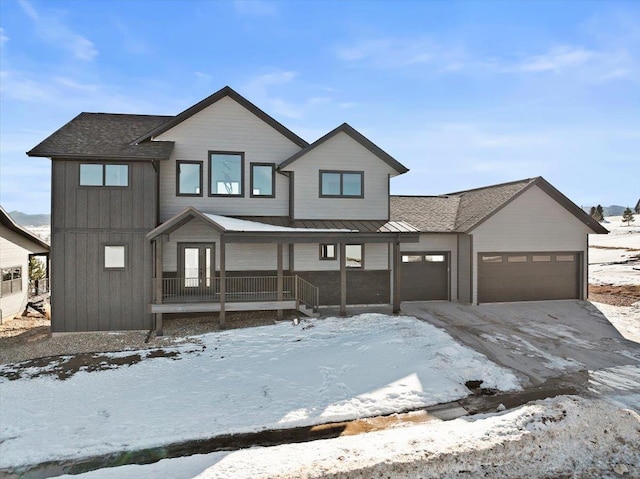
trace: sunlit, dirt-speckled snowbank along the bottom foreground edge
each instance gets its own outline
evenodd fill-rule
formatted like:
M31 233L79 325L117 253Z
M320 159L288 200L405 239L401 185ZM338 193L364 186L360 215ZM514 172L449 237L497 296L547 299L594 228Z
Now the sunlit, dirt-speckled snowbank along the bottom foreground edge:
M637 413L565 396L448 422L61 477L638 477L639 431Z

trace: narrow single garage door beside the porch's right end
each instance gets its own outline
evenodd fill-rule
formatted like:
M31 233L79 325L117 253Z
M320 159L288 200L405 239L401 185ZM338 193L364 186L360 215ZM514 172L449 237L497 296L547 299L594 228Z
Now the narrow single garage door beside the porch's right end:
M402 253L401 256L402 301L449 299L448 253Z

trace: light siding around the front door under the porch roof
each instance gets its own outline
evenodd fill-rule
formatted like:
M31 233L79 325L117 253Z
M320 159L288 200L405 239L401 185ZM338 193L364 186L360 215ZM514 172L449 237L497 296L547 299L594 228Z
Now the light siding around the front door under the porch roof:
M164 271L178 271L178 243L215 243L216 271L220 271L220 235L201 220L193 220L169 235L163 245ZM316 245L317 246L317 245ZM275 244L227 243L227 271L276 271ZM289 268L289 250L283 248L283 267Z

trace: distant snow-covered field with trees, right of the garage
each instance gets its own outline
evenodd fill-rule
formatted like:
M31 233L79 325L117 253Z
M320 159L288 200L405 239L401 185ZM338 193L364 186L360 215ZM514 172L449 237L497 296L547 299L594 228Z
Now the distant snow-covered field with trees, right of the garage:
M607 235L589 235L589 283L640 284L640 218L630 226L607 216Z

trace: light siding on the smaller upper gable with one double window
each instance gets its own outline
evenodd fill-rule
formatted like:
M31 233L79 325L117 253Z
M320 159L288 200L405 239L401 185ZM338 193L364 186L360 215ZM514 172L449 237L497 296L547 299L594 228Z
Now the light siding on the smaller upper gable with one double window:
M389 176L397 172L346 133L318 145L285 170L294 172L295 219L389 218ZM364 198L320 198L320 170L363 171Z

